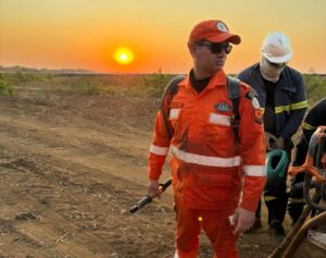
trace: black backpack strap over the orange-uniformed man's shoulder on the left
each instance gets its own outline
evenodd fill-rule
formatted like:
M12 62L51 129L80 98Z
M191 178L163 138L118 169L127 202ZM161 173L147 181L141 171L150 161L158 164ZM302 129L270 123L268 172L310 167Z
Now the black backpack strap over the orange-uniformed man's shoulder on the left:
M161 105L160 105L160 110L161 110L161 114L162 114L162 119L165 125L165 130L166 130L166 134L168 139L172 139L173 136L173 128L168 123L168 112L170 112L170 103L173 99L173 97L176 95L177 93L177 85L185 78L184 75L178 75L175 76L174 78L172 78L163 93L162 99L161 99Z

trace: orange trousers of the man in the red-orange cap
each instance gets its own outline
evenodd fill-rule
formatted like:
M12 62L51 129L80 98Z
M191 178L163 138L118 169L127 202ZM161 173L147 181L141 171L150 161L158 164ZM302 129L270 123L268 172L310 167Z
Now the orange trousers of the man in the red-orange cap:
M233 233L228 216L220 210L196 210L176 205L175 258L197 258L201 229L213 245L214 258L239 258L238 235Z

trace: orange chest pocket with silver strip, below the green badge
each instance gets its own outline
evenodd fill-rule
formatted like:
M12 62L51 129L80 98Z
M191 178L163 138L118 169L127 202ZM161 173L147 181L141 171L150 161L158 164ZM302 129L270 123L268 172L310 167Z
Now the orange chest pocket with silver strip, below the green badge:
M209 113L208 123L204 128L205 142L212 148L225 149L231 146L233 130L230 116L218 113Z

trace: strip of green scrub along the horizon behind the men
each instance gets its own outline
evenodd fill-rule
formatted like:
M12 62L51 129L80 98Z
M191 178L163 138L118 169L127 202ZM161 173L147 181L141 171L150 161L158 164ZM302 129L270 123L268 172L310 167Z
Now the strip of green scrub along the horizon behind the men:
M122 97L160 98L174 74L161 71L147 75L105 75L105 76L53 76L51 73L7 73L0 74L0 95L13 96L26 84L38 84L54 91L77 95L114 95ZM326 96L326 76L303 75L309 106Z

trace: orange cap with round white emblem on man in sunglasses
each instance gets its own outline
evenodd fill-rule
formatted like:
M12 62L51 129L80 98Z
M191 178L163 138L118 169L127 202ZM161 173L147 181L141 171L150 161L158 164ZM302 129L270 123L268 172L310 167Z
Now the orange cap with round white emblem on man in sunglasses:
M218 20L203 21L197 24L189 36L189 42L208 40L210 42L228 41L235 45L241 42L238 35L230 34L226 24Z

